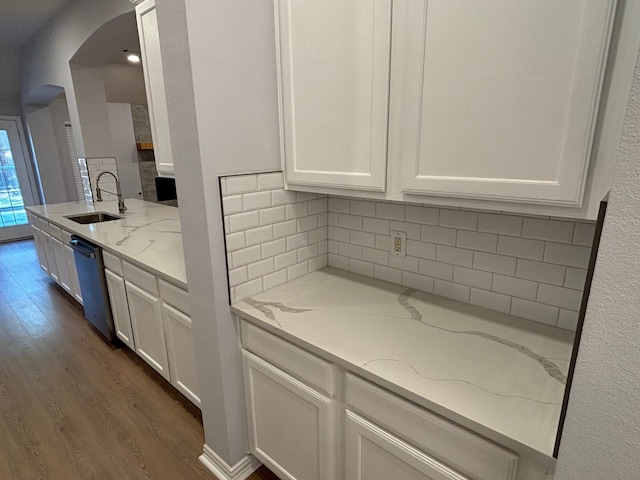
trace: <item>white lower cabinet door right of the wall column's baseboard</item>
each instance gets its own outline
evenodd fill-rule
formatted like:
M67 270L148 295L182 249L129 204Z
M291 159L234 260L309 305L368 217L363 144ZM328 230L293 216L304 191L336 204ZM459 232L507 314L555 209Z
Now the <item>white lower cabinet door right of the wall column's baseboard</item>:
M283 479L333 479L331 399L247 351L242 355L251 452Z

